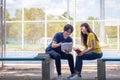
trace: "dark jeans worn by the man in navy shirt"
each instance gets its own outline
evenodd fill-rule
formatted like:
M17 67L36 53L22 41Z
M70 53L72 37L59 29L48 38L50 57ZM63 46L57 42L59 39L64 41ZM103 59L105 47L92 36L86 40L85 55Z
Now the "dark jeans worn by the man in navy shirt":
M55 50L46 50L46 53L50 55L52 59L55 59L56 69L58 75L61 75L61 59L67 59L70 67L71 74L74 73L74 59L72 54L66 54L64 52L58 53Z

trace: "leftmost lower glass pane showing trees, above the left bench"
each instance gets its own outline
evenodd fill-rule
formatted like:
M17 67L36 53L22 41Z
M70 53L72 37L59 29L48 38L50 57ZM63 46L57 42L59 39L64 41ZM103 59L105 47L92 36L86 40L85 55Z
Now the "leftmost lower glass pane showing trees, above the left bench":
M21 33L22 24L17 22L6 24L6 49L7 50L19 50L21 49Z

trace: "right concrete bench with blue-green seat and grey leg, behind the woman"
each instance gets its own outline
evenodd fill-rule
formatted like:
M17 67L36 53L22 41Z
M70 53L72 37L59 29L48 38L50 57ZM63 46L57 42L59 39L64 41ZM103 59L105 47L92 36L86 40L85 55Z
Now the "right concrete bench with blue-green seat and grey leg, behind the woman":
M106 80L106 61L120 61L120 58L102 58L97 60L97 78Z

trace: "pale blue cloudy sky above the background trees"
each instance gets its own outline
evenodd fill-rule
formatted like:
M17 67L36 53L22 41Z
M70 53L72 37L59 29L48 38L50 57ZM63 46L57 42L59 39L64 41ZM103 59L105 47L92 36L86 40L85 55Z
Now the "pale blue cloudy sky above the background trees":
M70 1L70 15L74 15L74 1ZM6 0L10 15L16 8L47 8L48 14L59 16L67 10L67 0ZM100 17L100 0L76 0L76 17L86 20L89 16ZM120 19L120 0L105 0L105 19Z

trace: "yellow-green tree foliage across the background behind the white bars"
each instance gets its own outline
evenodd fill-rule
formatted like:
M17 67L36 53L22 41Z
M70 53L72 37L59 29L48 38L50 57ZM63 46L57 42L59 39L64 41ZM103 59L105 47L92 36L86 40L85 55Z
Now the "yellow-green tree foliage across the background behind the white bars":
M10 12L6 10L6 19L8 21L21 21L22 20L22 10L16 9L15 17L10 18ZM62 16L62 17L61 17ZM67 18L67 12L64 12L61 16L47 15L47 20L65 20ZM64 17L64 18L63 18ZM71 23L73 18L69 16L69 20ZM100 22L94 21L98 20L98 18L94 18L90 16L88 18L89 21L87 23L93 29L94 23L94 32L100 37ZM41 39L45 37L45 31L47 32L47 37L52 38L56 32L63 31L63 27L67 22L39 22L45 21L45 12L41 8L24 8L24 25L21 22L15 23L7 23L6 35L8 43L15 41L16 43L21 44L22 34L24 35L24 43L25 45L31 44L40 44ZM27 21L27 22L26 22ZM31 22L36 21L36 22ZM38 21L38 22L37 22ZM79 44L80 41L80 25L84 21L77 21L76 26L76 43ZM24 33L22 33L22 25L24 26ZM45 25L47 29L45 30ZM117 36L117 27L116 26L105 26L105 35L108 35L109 38L116 38ZM10 42L11 40L11 42ZM44 44L44 42L42 42ZM27 46L28 47L28 46ZM27 48L26 47L26 48ZM43 48L43 46L42 46Z

